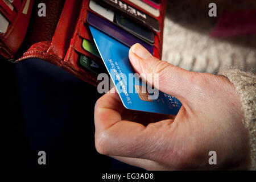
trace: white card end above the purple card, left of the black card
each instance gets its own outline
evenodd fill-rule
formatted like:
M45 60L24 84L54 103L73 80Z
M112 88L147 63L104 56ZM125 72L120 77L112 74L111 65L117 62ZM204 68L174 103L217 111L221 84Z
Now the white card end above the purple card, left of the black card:
M104 18L114 22L114 11L99 5L97 2L90 0L89 7Z

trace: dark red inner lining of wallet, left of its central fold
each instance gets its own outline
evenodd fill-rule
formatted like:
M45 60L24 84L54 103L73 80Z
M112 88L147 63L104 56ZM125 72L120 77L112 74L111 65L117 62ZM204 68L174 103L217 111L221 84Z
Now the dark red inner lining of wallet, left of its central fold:
M33 53L36 51L39 52L39 50L40 54L42 55L42 51L46 53L51 46L52 38L59 22L60 15L63 11L65 1L35 0L35 5L38 5L39 2L43 2L46 4L47 15L39 17L39 9L37 6L34 6L25 38L26 41L23 42L22 46L19 49L19 52L17 53L17 57L22 55L22 57L20 57L18 61L27 59L28 55L31 55L31 57L33 57ZM48 45L48 47L46 45ZM38 50L36 50L36 48L38 48ZM37 53L35 53L35 57L36 56L38 56ZM41 57L42 56L40 56L40 58Z

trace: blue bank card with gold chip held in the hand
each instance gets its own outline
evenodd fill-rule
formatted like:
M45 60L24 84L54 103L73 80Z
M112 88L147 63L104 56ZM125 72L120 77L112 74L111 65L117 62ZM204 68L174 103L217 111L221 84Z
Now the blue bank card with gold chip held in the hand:
M117 88L123 105L127 109L172 115L178 113L181 103L175 97L159 90L155 90L151 94L148 91L143 92L143 88L146 88L144 82L138 77L130 78L135 72L129 60L129 47L104 34L104 32L92 26L89 27L101 58L115 84L115 88Z

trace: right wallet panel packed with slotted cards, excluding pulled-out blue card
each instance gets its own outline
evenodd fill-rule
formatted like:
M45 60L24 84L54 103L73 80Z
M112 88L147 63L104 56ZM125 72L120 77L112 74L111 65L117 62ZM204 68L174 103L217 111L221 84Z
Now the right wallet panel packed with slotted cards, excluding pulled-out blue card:
M92 54L93 57L88 57L87 53L78 50L81 53L79 60L82 60L81 57L88 57L94 63L102 62L90 34L89 26L105 32L105 34L128 47L139 43L152 55L160 57L158 33L160 31L160 1L90 0L87 11L86 22L80 35L81 47L87 53ZM86 65L86 67L81 63L80 65L85 69L92 70L89 65Z

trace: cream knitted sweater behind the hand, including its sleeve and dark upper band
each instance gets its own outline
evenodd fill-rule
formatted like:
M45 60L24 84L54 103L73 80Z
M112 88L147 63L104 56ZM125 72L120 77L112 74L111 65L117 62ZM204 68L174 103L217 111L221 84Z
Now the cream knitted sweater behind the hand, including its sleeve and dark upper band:
M217 4L216 18L208 15L210 2ZM248 35L248 32L244 32L245 28L239 29L241 22L237 22L238 26L231 28L233 31L238 27L236 36L209 36L213 31L226 31L218 30L218 27L225 27L222 23L222 19L227 19L224 12L241 9L246 12L248 7L256 12L256 2L250 0L195 0L193 3L191 0L168 1L164 22L163 60L189 71L218 73L234 84L245 114L243 123L250 135L251 169L255 170L256 30L250 25L256 23L249 22L249 27L246 27L250 33L255 31L254 34ZM256 20L256 16L253 20ZM233 69L228 69L230 67Z

